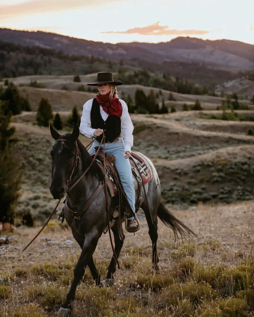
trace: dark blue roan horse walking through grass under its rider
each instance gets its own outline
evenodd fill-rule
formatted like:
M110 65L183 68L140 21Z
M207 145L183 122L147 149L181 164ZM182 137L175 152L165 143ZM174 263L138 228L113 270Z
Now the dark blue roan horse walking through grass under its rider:
M68 180L71 180L68 184L68 188L72 187L73 184L80 178L84 171L92 162L92 158L87 152L86 148L82 145L79 136L79 128L75 126L72 133L66 133L60 135L51 125L50 132L55 139L55 144L50 151L52 158L52 178L50 191L54 199L60 199L64 197L66 192L66 186ZM139 153L142 155L141 153ZM176 217L170 213L169 210L161 202L161 191L160 191L160 181L157 171L154 168L153 163L144 155L142 157L148 163L152 170L153 177L148 183L147 200L145 199L141 205L144 211L146 221L149 228L149 236L152 240L153 256L152 262L153 267L158 271L158 261L157 256L157 216L170 227L175 236L178 233L182 238L195 235L192 230L190 230L184 223L178 220ZM76 164L76 159L78 158L78 164ZM80 181L73 187L73 189L68 192L68 206L64 205L64 217L71 228L72 234L76 239L77 243L80 245L82 252L76 263L74 269L74 279L72 281L70 291L67 294L66 301L59 310L60 314L65 316L71 314L71 302L75 298L76 287L79 281L82 279L85 268L88 265L92 276L95 280L96 285L104 285L100 280L100 275L96 269L93 261L93 253L97 246L98 240L102 235L104 228L107 225L107 212L106 212L106 199L105 191L101 190L96 196L94 201L82 214L81 219L76 219L71 210L82 211L82 208L88 198L94 193L96 188L99 186L103 180L103 174L98 166L98 163L94 161L89 168L88 172L80 179ZM108 206L109 214L112 215L117 201L114 201L115 197L110 197L108 194ZM144 191L142 189L142 196L144 197ZM138 197L136 197L137 199ZM149 207L148 207L149 204ZM150 210L150 211L149 211ZM121 222L123 219L121 220ZM124 243L124 235L121 239L119 236L119 226L116 222L112 227L112 232L115 241L115 255L118 257ZM111 262L108 266L108 272L106 275L107 282L113 282L113 274L116 271L116 260L112 257Z

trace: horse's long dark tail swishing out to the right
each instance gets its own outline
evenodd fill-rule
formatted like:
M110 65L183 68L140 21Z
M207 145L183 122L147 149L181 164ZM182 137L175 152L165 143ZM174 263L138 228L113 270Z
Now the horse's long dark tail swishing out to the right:
M197 235L189 227L187 227L181 220L178 220L169 210L167 210L164 204L160 203L157 210L157 215L167 227L174 231L175 241L176 238L178 238L178 233L182 239L186 237L190 238L190 236L197 237Z

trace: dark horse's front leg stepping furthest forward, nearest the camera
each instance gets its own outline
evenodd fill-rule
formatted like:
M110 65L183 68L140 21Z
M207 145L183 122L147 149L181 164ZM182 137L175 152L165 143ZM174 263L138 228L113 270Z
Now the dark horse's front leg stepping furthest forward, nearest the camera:
M71 302L75 298L77 285L85 273L85 267L94 253L100 236L101 233L99 233L97 228L85 235L82 252L74 269L74 279L72 281L70 291L66 296L64 305L59 310L59 312L63 313L65 316L71 313Z

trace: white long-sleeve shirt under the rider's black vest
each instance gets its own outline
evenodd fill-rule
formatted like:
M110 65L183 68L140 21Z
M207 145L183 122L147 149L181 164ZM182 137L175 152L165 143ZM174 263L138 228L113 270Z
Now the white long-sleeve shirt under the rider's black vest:
M124 139L124 151L130 151L133 146L133 124L130 119L130 115L128 113L128 107L124 100L119 99L123 107L123 113L121 115L121 133ZM91 109L92 109L93 99L88 100L83 105L83 112L80 122L79 130L83 133L87 138L94 137L94 131L96 129L91 128ZM100 115L101 118L106 121L108 114L102 109L100 106Z

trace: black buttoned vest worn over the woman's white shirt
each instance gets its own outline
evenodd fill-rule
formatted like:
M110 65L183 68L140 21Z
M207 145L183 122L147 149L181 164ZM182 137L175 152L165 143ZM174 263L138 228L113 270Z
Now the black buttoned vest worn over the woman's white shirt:
M91 108L91 128L103 129L105 134L105 142L113 142L114 139L121 134L121 119L117 116L108 116L107 120L104 121L100 115L100 104L94 98ZM98 142L101 142L103 134L96 138Z

